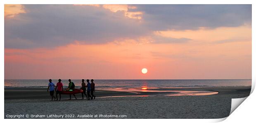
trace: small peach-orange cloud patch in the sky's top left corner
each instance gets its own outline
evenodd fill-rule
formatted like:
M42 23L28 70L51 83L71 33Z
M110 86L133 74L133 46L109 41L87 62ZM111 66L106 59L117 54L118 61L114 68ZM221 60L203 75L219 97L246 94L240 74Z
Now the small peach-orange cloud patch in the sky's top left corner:
M5 5L5 18L12 18L15 15L20 13L26 13L23 5L12 5L12 4Z

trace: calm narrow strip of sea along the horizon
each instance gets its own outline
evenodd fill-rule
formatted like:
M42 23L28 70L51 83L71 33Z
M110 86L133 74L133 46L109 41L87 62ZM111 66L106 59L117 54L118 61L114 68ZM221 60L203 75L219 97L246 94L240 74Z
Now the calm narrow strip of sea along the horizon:
M81 80L71 80L76 87L81 86ZM53 79L53 83L58 80ZM17 87L48 87L47 79L5 79L5 88ZM62 80L64 87L68 86L68 80ZM85 80L86 83L86 80ZM251 79L239 80L94 80L97 88L140 88L140 87L159 87L159 88L191 88L191 87L249 87Z

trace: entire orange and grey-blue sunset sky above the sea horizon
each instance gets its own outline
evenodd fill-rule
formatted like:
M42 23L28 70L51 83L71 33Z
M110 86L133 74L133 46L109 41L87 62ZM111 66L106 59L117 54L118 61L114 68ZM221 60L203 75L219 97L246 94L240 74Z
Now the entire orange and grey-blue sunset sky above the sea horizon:
M5 5L5 79L48 78L251 79L251 5Z

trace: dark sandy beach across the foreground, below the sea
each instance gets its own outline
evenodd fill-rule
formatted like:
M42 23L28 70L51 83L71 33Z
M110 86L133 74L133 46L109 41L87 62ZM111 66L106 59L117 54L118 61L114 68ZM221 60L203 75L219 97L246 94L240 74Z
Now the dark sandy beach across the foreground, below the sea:
M234 88L157 88L156 92L121 92L96 90L96 99L50 101L45 88L5 88L5 118L7 115L28 114L29 118L224 118L230 114L231 99L247 97L250 87ZM214 95L168 96L166 90L214 91ZM32 116L31 116L32 115ZM45 117L35 117L41 115ZM99 117L99 116L102 117ZM125 117L104 117L125 115ZM82 117L85 116L85 117ZM26 118L26 117L25 117ZM59 118L59 117L53 117Z

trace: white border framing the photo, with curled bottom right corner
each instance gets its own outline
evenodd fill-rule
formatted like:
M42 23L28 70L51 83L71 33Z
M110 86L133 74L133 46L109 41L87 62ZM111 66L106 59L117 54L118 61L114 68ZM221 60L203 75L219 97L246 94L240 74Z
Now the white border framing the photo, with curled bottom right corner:
M47 1L47 0L1 0L1 6L0 6L0 18L1 18L1 24L4 25L4 4L252 4L252 22L255 21L255 0L55 0L55 1ZM0 53L0 57L2 58L1 62L1 80L2 80L2 84L4 87L4 26L1 26L1 53ZM254 90L255 87L255 54L256 54L256 43L255 43L255 25L254 23L252 24L252 91ZM4 96L4 90L2 90L2 97ZM3 100L1 101L1 106L2 109L4 109L4 98L2 98ZM255 104L253 102L255 102L256 100L256 95L255 94L251 94L248 99L248 101L245 101L243 103L246 103L245 105L242 104L242 106L239 106L237 108L237 110L239 109L240 112L236 112L234 111L234 113L232 113L232 115L230 116L230 118L228 118L228 120L226 120L226 123L230 123L230 122L237 122L237 121L244 121L247 118L247 120L254 121L254 116L255 116ZM243 109L241 109L241 108ZM252 109L252 110L250 110ZM4 118L4 110L2 110L0 112L0 115L2 117L2 119ZM247 116L251 116L251 117L247 117ZM111 119L107 119L108 121L111 121L113 123L120 123L120 122L181 122L181 123L187 123L187 122L192 122L192 123L205 123L205 122L218 122L218 121L222 121L225 118L222 119L151 119L151 120L145 120L145 119L126 119L126 120L122 120L122 119L116 119L116 120L111 120ZM45 121L47 122L59 122L59 119L40 119L40 120L36 120L36 119L31 119L31 120L19 120L19 119L13 119L12 121L16 121L17 122L39 122L39 123L43 123ZM93 121L91 119L82 119L82 120L86 120L84 122L106 122L106 120L102 120L102 119L94 119ZM5 119L4 122L8 122L10 121L10 119ZM61 120L61 122L63 122L64 120ZM81 121L79 119L66 119L65 122L77 122L77 121Z

